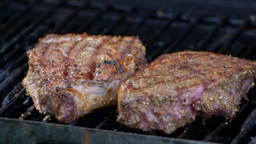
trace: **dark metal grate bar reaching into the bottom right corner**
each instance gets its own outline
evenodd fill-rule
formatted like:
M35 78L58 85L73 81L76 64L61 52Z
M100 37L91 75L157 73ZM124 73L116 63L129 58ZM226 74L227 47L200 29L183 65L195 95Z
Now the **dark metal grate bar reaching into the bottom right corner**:
M231 143L240 143L242 139L245 139L245 136L256 126L256 109L254 109L247 117L245 123L240 128L240 133L236 136L236 138Z

